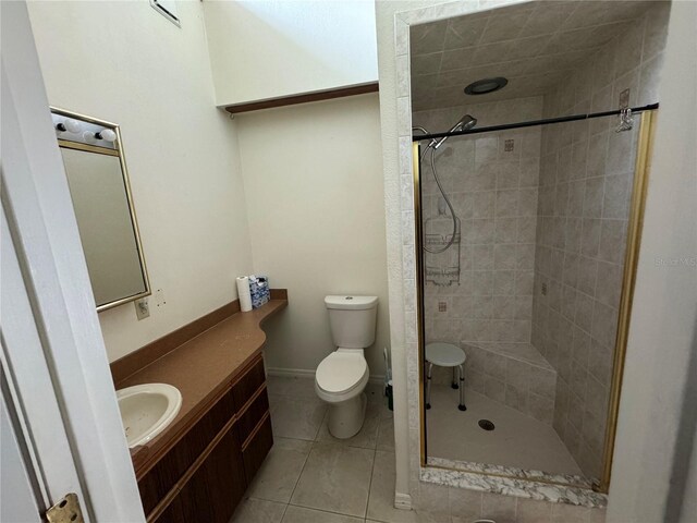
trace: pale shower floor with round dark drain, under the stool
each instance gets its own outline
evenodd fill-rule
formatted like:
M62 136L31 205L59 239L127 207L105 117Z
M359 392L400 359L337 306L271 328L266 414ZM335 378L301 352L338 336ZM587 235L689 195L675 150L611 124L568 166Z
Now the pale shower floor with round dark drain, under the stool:
M432 387L432 406L426 414L429 457L582 475L551 426L470 389L467 411L461 412L457 398L457 390ZM479 419L491 421L496 428L484 430Z

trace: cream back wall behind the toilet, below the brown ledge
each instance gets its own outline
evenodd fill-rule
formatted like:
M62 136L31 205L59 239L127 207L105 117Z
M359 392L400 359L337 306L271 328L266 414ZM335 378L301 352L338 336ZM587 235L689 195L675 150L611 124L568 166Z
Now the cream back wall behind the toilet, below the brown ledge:
M267 365L314 372L334 350L323 299L380 299L371 375L389 345L380 113L376 94L235 117L254 269L288 288Z

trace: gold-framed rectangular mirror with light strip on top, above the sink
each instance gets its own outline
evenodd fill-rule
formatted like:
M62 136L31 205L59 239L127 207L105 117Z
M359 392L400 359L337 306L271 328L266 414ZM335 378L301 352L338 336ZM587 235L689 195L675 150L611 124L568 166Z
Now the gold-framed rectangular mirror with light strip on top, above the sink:
M51 112L97 311L149 295L119 126Z

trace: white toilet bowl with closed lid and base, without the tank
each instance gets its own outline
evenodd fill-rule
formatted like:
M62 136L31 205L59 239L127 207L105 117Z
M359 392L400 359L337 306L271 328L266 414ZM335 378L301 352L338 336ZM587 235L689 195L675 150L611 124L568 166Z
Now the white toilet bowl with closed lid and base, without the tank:
M368 364L362 349L339 349L317 367L315 391L329 403L329 433L340 439L355 436L366 414Z

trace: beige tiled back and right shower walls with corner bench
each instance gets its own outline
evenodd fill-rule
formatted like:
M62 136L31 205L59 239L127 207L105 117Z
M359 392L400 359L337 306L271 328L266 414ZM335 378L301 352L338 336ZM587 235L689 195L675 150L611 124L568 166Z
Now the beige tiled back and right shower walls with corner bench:
M416 110L413 123L478 127L658 100L668 5L656 5L539 96ZM418 62L413 62L418 63ZM467 387L552 426L599 477L622 290L638 119L616 118L452 137L437 169L460 218L443 254L426 254L425 342L457 343ZM452 221L423 162L426 243ZM441 243L442 244L442 243ZM453 268L458 266L458 278ZM436 367L433 382L451 374Z

